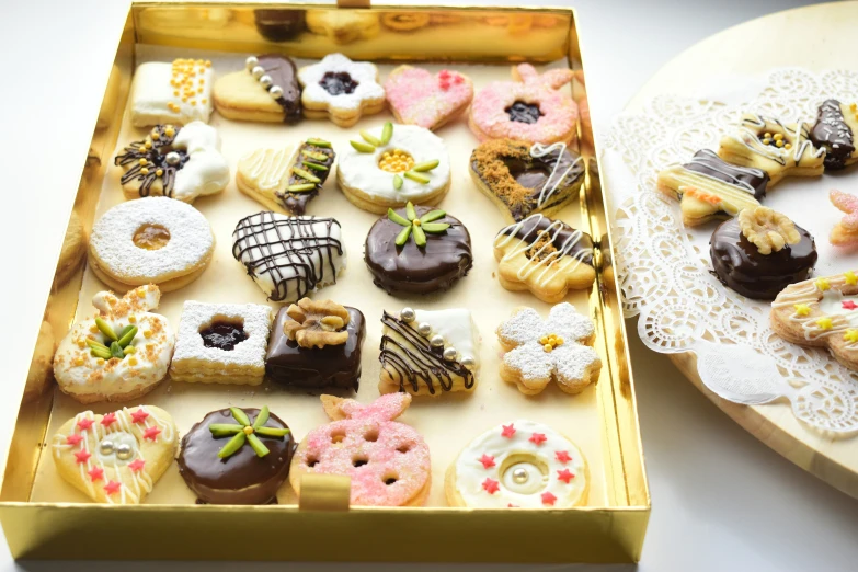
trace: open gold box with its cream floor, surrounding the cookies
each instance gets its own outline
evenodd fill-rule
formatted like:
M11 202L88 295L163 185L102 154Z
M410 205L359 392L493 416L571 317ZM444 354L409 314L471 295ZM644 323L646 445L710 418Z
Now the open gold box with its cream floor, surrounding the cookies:
M211 61L218 76L243 69L249 55L279 53L306 66L341 53L375 62L380 79L402 62L432 72L457 69L473 80L474 90L508 80L511 65L526 61L540 72L574 70L571 92L582 105L586 102L586 67L579 25L575 12L568 8L134 2L121 34L117 31L116 52L95 55L90 62L104 66L105 76L108 68L111 72L101 111L93 117L91 145L88 150L76 150L81 157L80 181L77 185L69 181L61 190L77 193L68 233L81 232L81 227L89 233L107 209L125 202L122 170L114 165L114 157L147 133L131 125L128 113L135 70L146 61L201 58ZM295 125L234 122L213 113L209 124L222 141L230 182L222 193L201 197L193 207L211 226L214 254L197 281L162 295L158 313L175 330L186 300L266 304L276 312L282 305L266 299L233 258L237 222L266 210L236 187L237 162L256 148L294 146L308 138L322 138L335 150L345 149L350 140L359 139L359 130L380 127L386 121L393 121L389 111L365 116L346 128L308 118ZM594 348L603 367L597 381L574 396L553 384L538 396L525 396L501 380L502 350L495 329L517 307L533 307L545 317L550 305L499 284L492 241L507 222L470 178L469 157L479 141L465 116L437 135L448 150L451 171L451 188L441 206L470 231L474 260L470 273L448 291L390 296L376 287L362 259L364 239L379 216L348 203L333 178L308 207L309 214L340 222L348 252L346 272L321 297L358 308L366 318L359 390L344 397L368 403L379 396L385 311L467 308L479 329L481 365L476 390L414 397L400 417L423 435L431 451L431 488L422 506L350 507L348 480L324 476L305 477L300 500L287 481L273 504L198 504L175 462L141 504L91 502L59 477L52 455L54 435L80 412L103 415L123 405L146 403L169 411L181 436L209 411L266 405L288 423L296 441L329 420L319 399L323 391L284 388L270 380L239 386L167 379L128 403L78 403L59 391L47 365L70 327L93 314L93 296L110 288L93 273L90 261L64 263L57 267L43 323L27 324L34 336L38 332L28 379L9 380L20 386L23 396L0 491L0 522L12 554L114 560L637 561L650 495L590 124L579 125L577 150L586 164L580 201L554 215L594 240L596 282L588 289L571 291L565 300L593 320ZM46 390L32 390L45 379L50 384ZM570 508L449 506L445 473L459 451L491 427L516 420L548 424L576 444L587 459L586 503Z

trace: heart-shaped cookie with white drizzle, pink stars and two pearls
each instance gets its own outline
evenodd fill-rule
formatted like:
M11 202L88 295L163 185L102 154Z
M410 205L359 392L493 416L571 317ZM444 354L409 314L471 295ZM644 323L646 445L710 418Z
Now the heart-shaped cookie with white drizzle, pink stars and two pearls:
M140 504L173 462L170 414L152 405L78 413L54 435L60 477L98 503Z

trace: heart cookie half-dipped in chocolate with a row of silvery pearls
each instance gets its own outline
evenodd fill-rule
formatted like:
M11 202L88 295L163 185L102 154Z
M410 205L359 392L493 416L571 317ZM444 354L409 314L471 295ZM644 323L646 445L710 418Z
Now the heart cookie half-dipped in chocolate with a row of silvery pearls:
M301 87L295 62L279 54L250 56L245 69L218 78L214 88L215 108L228 119L298 123Z

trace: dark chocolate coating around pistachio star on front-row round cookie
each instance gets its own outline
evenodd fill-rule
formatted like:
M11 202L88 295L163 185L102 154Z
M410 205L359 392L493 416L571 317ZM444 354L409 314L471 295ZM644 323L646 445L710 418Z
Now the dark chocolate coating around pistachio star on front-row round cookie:
M260 410L241 408L256 420ZM289 464L295 453L291 433L285 436L266 437L256 435L271 453L260 457L244 445L229 457L217 456L230 437L211 436L208 426L213 423L236 424L229 409L213 411L195 424L182 438L179 451L179 473L194 491L199 501L208 504L270 504L276 502L277 490L289 476ZM271 413L265 427L287 427L277 415Z

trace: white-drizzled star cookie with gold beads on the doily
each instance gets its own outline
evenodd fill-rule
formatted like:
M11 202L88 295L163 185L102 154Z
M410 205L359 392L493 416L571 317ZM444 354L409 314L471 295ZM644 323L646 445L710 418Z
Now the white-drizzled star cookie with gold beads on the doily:
M805 123L785 125L771 117L746 113L736 131L721 138L718 156L728 163L763 169L771 188L787 175L821 175L825 148L813 145Z

